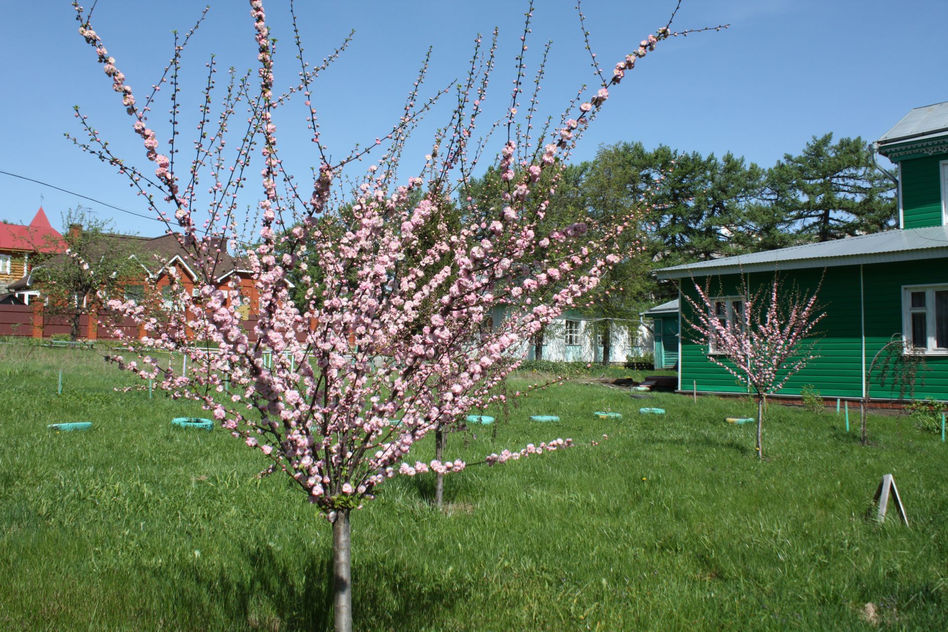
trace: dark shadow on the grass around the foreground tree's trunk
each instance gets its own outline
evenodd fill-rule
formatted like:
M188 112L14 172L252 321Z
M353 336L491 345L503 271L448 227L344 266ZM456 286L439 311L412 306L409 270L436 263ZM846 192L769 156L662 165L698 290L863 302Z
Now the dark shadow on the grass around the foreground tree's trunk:
M300 554L258 546L246 553L249 575L220 568L210 575L191 567L178 587L177 603L197 620L210 606L225 614L234 629L332 629L331 551L318 550L319 545L312 549ZM354 628L360 630L437 622L439 611L450 610L469 593L468 587L420 575L396 562L360 562L357 554L353 579Z

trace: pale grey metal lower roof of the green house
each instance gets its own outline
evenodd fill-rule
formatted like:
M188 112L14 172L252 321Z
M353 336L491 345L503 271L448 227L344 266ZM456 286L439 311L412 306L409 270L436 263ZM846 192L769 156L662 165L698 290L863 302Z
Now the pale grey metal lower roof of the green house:
M948 226L886 230L820 244L794 245L737 257L685 263L658 270L659 279L764 270L904 262L948 257Z

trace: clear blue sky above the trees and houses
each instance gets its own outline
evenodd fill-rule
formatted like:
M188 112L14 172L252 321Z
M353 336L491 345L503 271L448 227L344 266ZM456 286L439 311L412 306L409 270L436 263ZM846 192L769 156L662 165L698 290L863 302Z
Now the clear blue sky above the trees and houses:
M93 26L126 81L141 95L171 55L170 31L186 30L204 4L100 0ZM525 2L314 0L300 5L302 35L312 61L331 51L350 28L356 29L350 49L317 85L323 138L333 153L346 153L353 143L373 140L391 127L428 45L434 51L423 94L460 78L475 35L486 35L495 26L501 29L501 39L488 113L499 117L507 104ZM553 40L540 110L558 115L579 85L593 85L594 78L574 2L541 0L538 5L528 72L535 70L544 43ZM69 3L3 0L3 6L9 25L7 50L14 57L8 57L0 71L5 86L0 119L6 121L0 170L147 212L113 169L64 138L64 132L79 131L72 106L80 104L119 155L136 164L145 162L131 134L131 119L94 51L79 36ZM277 83L288 86L297 62L287 3L270 0L266 7L280 39ZM586 0L587 27L604 66L611 68L664 25L673 7L673 0ZM186 141L194 129L195 99L210 53L217 55L222 70L228 65L246 69L256 62L246 9L238 0L211 0L208 20L185 53L183 111L188 124L181 138ZM943 0L684 0L674 26L721 23L732 26L671 40L628 73L611 91L608 107L574 159L593 157L602 143L641 140L648 147L665 143L683 151L730 151L769 166L784 153L798 153L811 135L832 132L875 139L909 109L948 99L939 30L948 23L948 2ZM218 79L223 82L223 72ZM166 88L166 97L168 92ZM164 147L167 102L159 105L150 122ZM317 165L312 145L305 142L303 114L301 104L290 106L276 121L284 160L300 177ZM447 114L442 108L428 117L407 148L406 168L418 165L428 153L431 134ZM257 171L255 167L250 176L254 188ZM155 222L49 187L3 174L0 183L0 219L27 223L42 195L57 227L62 211L82 203L101 217L113 218L121 230L146 235L163 230ZM256 195L256 189L252 192ZM249 196L246 203L252 203Z

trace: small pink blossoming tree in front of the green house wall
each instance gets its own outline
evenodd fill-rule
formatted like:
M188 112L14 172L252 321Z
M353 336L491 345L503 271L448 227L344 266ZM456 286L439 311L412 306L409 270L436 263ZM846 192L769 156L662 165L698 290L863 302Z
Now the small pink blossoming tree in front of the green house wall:
M763 459L764 405L767 395L783 388L793 375L813 358L815 327L826 316L817 303L820 280L811 294L799 289L786 291L778 274L768 288L749 292L741 276L740 307L735 317L720 318L720 299L711 289L695 283L698 298L684 294L691 307L683 312L688 326L699 334L698 342L709 346L708 359L738 378L757 395L757 457ZM711 353L713 347L713 353Z

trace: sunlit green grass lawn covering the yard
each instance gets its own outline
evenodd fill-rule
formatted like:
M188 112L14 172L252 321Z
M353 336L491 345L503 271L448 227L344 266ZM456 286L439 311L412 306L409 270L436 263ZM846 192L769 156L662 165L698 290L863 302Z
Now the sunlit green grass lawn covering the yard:
M242 442L170 425L199 408L112 390L130 380L0 345L0 630L326 629L329 524L287 480L255 479ZM445 512L431 477L388 482L353 516L356 629L948 627L948 445L872 416L862 447L835 414L774 405L758 462L754 428L723 422L754 409L574 382L494 411L448 455L610 439L449 475ZM95 425L46 429L66 421ZM866 520L887 473L911 528Z

